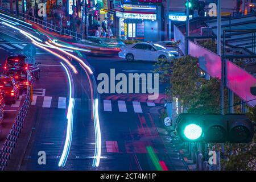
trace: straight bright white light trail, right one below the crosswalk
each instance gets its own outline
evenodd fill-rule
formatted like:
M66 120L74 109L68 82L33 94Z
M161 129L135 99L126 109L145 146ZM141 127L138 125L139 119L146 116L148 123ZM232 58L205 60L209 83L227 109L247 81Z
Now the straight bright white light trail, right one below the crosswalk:
M94 131L95 131L96 145L95 145L92 166L98 167L100 165L100 160L101 160L101 127L100 127L100 119L98 117L98 98L94 99L93 114L94 114Z

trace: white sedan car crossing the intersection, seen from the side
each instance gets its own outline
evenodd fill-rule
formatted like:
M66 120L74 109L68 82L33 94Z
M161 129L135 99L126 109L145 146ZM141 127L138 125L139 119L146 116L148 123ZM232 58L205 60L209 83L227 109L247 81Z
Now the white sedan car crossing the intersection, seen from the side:
M127 61L158 61L159 59L170 60L173 57L178 57L178 53L177 51L170 51L156 43L135 43L122 47L118 56Z

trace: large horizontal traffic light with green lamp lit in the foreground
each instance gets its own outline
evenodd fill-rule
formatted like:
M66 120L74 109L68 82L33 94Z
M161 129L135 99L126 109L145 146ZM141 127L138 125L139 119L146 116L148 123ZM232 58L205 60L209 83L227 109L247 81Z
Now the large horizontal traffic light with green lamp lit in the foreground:
M249 143L254 126L245 114L180 114L177 133L184 142Z

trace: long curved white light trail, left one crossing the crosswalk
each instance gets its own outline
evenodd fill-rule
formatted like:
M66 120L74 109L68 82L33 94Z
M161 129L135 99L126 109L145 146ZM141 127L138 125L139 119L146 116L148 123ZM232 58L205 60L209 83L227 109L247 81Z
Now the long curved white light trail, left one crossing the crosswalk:
M65 139L65 144L63 148L63 152L60 157L60 161L58 166L64 167L65 163L67 162L70 147L71 147L71 142L72 142L72 131L73 131L73 109L75 106L75 99L73 98L73 84L71 82L71 76L69 75L70 73L68 72L68 68L65 67L65 65L60 62L60 64L63 66L65 69L65 72L67 73L68 76L68 83L69 83L69 104L68 104L68 112L67 112L67 134L66 134L66 139Z

